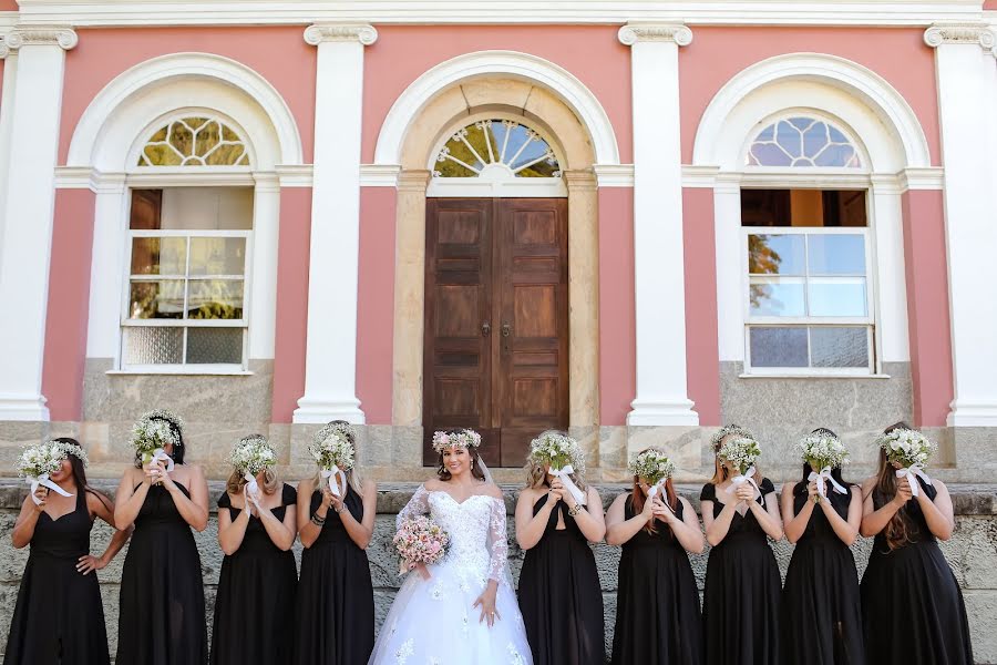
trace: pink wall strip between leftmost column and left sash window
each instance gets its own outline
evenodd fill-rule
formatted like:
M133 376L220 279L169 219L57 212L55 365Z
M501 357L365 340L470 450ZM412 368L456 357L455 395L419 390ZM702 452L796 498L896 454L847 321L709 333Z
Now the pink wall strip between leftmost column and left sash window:
M90 311L94 194L56 190L42 395L52 420L80 420Z

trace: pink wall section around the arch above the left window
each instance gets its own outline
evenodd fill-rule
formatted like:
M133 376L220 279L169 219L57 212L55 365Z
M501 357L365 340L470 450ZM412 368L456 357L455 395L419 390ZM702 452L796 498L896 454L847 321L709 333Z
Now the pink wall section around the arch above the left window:
M224 55L269 81L290 108L305 147L305 162L311 162L316 49L305 43L300 25L81 29L76 32L80 44L65 57L60 164L65 164L80 116L107 83L140 62L182 52Z

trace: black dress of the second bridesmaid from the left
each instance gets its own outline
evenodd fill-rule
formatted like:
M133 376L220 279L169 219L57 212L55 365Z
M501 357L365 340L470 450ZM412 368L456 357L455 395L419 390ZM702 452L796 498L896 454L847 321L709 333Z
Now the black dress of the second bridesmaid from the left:
M201 555L191 525L162 485L148 489L135 518L121 573L120 608L116 665L207 662Z

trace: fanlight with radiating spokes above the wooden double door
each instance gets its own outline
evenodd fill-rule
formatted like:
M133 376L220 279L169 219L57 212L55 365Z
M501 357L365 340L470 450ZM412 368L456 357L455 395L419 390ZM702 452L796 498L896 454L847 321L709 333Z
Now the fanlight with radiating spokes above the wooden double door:
M512 120L483 120L456 132L436 155L435 177L561 177L551 145Z

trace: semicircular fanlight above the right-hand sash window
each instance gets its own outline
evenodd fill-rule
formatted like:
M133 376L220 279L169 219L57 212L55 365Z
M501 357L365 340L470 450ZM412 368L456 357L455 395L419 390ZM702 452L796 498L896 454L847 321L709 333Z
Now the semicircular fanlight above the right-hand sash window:
M859 151L834 125L815 117L777 121L754 137L749 166L819 166L861 168Z

